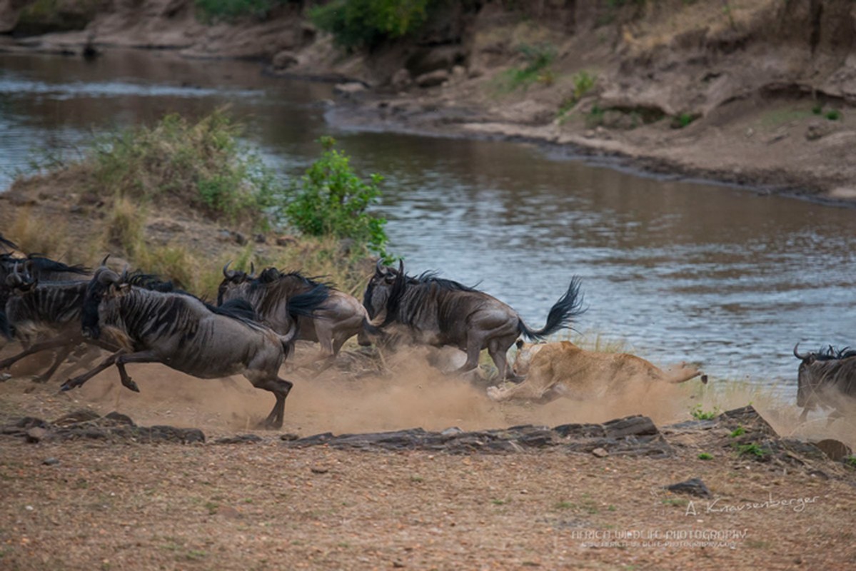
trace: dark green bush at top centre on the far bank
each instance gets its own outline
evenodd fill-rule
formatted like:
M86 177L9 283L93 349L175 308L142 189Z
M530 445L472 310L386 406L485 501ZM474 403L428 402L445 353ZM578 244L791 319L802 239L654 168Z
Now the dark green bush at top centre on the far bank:
M318 28L348 50L372 49L418 30L435 0L333 0L309 10Z

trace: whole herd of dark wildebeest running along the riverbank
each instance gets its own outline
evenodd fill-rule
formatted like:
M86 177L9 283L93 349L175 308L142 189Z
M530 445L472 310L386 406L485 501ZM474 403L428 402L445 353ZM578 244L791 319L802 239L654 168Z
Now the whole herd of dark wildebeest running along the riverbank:
M520 336L544 341L570 327L584 311L580 280L574 277L550 308L544 327L533 330L514 309L489 294L432 272L408 276L403 262L397 268L378 262L362 303L330 283L297 271L271 267L257 276L254 268L246 273L226 265L214 305L158 277L111 270L107 259L90 271L35 253L25 255L3 235L0 247L0 348L9 342L21 343L19 353L0 360L0 370L28 355L55 350L51 366L33 380L47 381L63 362L74 358L76 366L86 372L65 381L63 390L80 387L116 366L122 385L138 391L126 371L128 363L162 363L198 378L241 373L254 387L276 397L262 423L266 428L282 427L285 400L293 384L279 372L299 339L318 342L321 370L332 364L343 343L353 336L360 345L374 342L385 348L402 341L458 348L466 354L458 369L461 373L476 369L479 354L486 348L496 365L495 380L520 383L524 379L507 360L514 342ZM571 348L574 354L581 351ZM567 353L570 349L562 350ZM101 351L109 356L92 366ZM537 365L534 359L538 355L543 360L552 353L556 352L532 352L532 364ZM856 351L830 347L800 354L794 348L794 355L800 359L797 404L804 407L801 419L818 405L834 409L830 421L841 415L842 398L856 396ZM632 355L627 358L638 360ZM587 358L579 359L574 358L576 362ZM609 361L615 359L609 357ZM646 370L653 367L643 365ZM548 369L547 363L538 366L538 370ZM609 380L603 379L603 383ZM551 378L542 379L539 385L553 387L562 381L573 382ZM543 389L537 391L539 398L545 394ZM490 390L489 394L496 398L497 394L530 392Z

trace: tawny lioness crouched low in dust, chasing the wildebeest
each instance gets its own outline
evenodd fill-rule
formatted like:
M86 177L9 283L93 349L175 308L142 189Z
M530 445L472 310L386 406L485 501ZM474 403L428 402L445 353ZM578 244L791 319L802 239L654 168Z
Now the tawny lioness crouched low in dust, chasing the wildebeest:
M701 374L685 363L665 371L627 353L584 351L572 342L517 342L514 372L526 375L520 384L489 387L494 401L551 401L560 396L578 401L620 394L633 383L683 383ZM707 382L706 377L702 377Z

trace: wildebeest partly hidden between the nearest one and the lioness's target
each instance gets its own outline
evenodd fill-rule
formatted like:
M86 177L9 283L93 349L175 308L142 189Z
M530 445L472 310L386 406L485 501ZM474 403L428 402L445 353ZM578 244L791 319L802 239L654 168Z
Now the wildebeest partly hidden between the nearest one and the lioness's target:
M298 271L283 273L276 268L267 268L259 277L253 277L253 271L247 275L242 271L229 270L227 264L223 266L223 282L217 289L217 305L226 300L244 298L263 323L284 333L291 321L285 311L285 301L312 288L324 287L328 295L324 303L312 312L312 316L298 318L298 339L318 342L322 356L332 360L351 337L364 331L380 334L369 323L368 312L360 300L329 283L318 283L317 279L304 277Z

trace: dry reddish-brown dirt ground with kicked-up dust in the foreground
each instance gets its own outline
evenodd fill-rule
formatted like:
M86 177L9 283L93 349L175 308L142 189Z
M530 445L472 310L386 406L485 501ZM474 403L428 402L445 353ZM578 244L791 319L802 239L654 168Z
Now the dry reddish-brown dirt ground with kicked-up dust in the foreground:
M62 369L50 384L29 380L43 362L21 362L0 384L0 425L86 407L128 414L138 425L199 428L207 440L27 443L0 435L3 569L856 566L856 470L832 461L756 461L728 446L727 429L667 431L675 454L662 459L558 447L295 449L280 432L253 431L272 398L242 378L204 381L135 366L129 372L140 394L122 389L112 370L61 393ZM690 419L689 407L703 398L694 384L597 404L500 404L484 387L431 369L423 354L387 366L391 374L380 378L288 372L295 388L283 432L554 426L631 413L665 426ZM734 404L745 405L743 398ZM760 410L782 435L849 434L853 445L849 423L795 428L793 407ZM248 433L262 439L216 443ZM713 459L699 459L702 453ZM663 489L691 478L713 496Z

